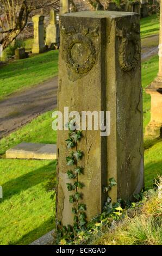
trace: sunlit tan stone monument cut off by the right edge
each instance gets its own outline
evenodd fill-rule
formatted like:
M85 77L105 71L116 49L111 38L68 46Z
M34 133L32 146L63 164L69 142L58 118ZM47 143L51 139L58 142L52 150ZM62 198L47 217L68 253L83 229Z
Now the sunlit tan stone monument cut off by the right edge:
M146 136L162 136L162 1L160 2L159 72L146 88L151 95L151 121L146 127Z

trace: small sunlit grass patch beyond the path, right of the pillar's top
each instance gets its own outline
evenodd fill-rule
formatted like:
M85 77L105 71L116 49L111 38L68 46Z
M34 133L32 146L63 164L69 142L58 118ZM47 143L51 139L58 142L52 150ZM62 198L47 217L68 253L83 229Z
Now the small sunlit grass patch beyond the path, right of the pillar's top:
M159 34L159 27L159 17L157 14L141 19L141 38Z

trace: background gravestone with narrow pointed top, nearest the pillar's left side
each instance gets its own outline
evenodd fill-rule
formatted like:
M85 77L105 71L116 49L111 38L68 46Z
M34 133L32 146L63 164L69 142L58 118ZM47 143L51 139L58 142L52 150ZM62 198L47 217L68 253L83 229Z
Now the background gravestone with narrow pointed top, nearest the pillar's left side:
M46 45L50 48L52 45L58 46L60 42L59 23L57 23L57 13L54 9L50 11L49 25L46 30Z

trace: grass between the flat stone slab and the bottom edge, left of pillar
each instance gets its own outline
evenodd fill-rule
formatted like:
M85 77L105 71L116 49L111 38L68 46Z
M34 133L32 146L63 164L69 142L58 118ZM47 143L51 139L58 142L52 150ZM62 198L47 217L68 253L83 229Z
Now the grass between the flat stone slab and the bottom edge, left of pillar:
M1 159L0 172L0 245L28 245L54 228L46 186L55 176L55 162Z

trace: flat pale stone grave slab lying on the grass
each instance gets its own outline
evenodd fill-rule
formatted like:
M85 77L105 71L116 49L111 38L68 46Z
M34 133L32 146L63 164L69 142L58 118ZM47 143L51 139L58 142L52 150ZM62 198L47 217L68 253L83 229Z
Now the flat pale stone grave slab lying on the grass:
M57 159L57 145L23 142L7 150L6 158L55 160Z

